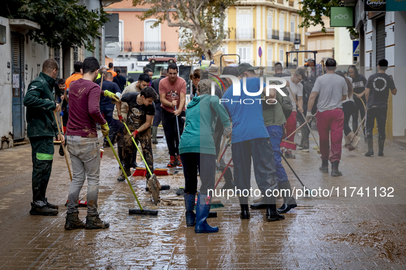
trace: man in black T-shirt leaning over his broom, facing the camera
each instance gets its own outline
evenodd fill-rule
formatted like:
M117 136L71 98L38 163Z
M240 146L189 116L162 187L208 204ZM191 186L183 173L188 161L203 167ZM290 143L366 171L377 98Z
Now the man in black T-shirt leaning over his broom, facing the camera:
M150 86L142 89L141 93L126 93L121 97L121 102L126 102L128 104L126 125L128 126L130 132L132 132L130 135L126 130L124 130L123 159L126 175L131 175L131 158L135 149L131 136L135 138L135 142L137 144L141 144L142 154L146 160L146 163L148 164L148 167L150 167L151 171L154 170L150 125L155 114L154 101L157 98L157 93L155 92L154 88ZM122 119L120 117L121 103L117 103L117 114L119 115L119 118ZM146 176L148 179L150 174L147 172ZM121 182L126 180L126 178L124 177L124 174L122 174L117 180Z

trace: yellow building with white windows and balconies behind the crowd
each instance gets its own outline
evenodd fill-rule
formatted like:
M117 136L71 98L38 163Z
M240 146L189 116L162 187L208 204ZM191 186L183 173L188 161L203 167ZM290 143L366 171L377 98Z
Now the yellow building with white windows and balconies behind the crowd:
M302 17L297 14L297 0L242 0L227 10L225 28L231 29L221 45L224 53L236 53L241 62L253 66L273 66L281 62L286 66L286 51L295 51L293 42L300 41L305 49L304 29L298 25ZM258 49L262 49L262 59ZM299 53L299 65L304 64L304 53ZM296 53L289 56L289 66L297 65Z

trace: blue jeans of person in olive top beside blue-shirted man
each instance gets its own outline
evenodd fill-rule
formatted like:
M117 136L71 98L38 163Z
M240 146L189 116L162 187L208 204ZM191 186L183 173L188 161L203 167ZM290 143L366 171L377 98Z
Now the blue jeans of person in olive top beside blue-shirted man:
M280 151L283 129L280 125L269 125L267 131L273 148L273 156L275 157L276 181L278 181L278 184L284 184L288 181L288 175L282 165L282 151Z

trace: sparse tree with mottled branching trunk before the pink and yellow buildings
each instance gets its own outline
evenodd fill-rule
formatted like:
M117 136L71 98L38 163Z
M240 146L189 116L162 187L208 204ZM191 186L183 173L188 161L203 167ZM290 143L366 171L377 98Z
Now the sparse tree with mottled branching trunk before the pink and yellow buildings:
M142 21L155 17L170 27L183 27L179 32L184 41L181 49L191 56L212 59L221 41L229 33L224 29L225 10L237 0L133 0L133 5L147 5L148 10L137 16Z

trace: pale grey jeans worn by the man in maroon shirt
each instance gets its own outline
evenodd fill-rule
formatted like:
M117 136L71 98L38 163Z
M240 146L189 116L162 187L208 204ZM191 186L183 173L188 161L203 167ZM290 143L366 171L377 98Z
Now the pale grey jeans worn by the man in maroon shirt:
M72 182L69 188L67 214L78 213L79 193L87 178L87 215L98 214L100 180L100 143L98 138L67 136L72 162Z

